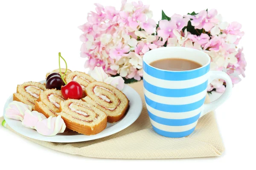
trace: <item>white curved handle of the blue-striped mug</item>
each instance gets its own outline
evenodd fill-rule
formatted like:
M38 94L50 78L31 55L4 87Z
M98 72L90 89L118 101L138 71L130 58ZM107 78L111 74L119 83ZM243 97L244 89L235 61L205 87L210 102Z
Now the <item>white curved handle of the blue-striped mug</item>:
M208 80L208 85L210 84L210 82L212 82L212 80L214 79L224 79L224 81L226 82L226 90L224 92L224 94L222 94L218 99L216 99L213 102L210 102L208 104L204 104L201 114L200 114L200 118L202 116L204 116L205 114L209 113L210 111L215 110L216 108L218 108L222 103L224 103L231 95L232 92L232 88L233 88L233 84L232 81L229 77L229 75L223 71L209 71L209 80Z

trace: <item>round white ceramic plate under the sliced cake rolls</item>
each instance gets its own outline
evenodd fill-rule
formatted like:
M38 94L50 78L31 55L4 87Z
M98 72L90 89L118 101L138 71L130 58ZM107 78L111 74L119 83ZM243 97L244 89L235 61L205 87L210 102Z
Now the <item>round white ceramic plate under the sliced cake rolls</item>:
M130 126L133 122L135 122L140 116L140 113L142 111L142 101L140 99L140 95L128 85L125 85L122 92L127 96L127 98L130 101L127 113L120 121L116 123L108 123L107 127L102 132L96 135L86 136L76 132L69 132L69 133L59 133L56 136L43 136L37 133L36 130L24 127L21 124L21 121L6 118L5 114L4 114L4 119L6 120L6 123L17 133L20 133L29 138L38 139L41 141L64 143L64 142L84 142L84 141L99 139L106 136L110 136L114 133L117 133L125 129L126 127ZM7 99L6 104L3 108L3 113L5 113L5 109L10 102L12 102L12 96L10 96L9 99Z

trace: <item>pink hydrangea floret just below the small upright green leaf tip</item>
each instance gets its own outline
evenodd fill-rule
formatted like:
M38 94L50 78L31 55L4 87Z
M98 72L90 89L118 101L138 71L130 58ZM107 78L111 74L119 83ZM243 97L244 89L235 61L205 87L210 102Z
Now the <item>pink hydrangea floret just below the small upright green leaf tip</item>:
M159 27L160 30L157 31L159 37L162 37L163 39L167 39L168 37L175 37L173 34L173 30L177 29L175 21L160 20Z

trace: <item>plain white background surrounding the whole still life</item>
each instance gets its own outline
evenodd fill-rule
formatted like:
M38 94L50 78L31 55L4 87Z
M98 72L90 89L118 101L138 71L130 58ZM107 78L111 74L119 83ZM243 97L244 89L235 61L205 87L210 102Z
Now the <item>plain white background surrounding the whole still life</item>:
M77 27L86 22L87 12L94 10L96 2L117 9L121 6L121 0L0 0L1 109L17 84L40 81L48 71L58 68L59 51L71 70L85 71L85 59L79 57L81 31ZM22 167L130 169L140 166L158 170L255 168L255 6L246 0L143 0L143 3L151 5L155 20L160 20L162 9L171 16L216 8L224 20L242 24L245 35L240 45L244 46L247 59L246 78L235 85L230 99L216 110L226 147L224 154L200 159L94 159L50 150L0 127L1 170Z

